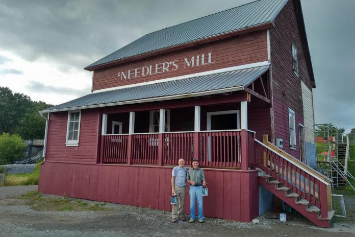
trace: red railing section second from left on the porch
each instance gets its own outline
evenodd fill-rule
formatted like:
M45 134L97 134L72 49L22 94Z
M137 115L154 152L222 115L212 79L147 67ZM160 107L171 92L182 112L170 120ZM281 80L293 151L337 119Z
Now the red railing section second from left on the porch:
M159 134L133 134L132 135L132 162L133 163L158 163Z

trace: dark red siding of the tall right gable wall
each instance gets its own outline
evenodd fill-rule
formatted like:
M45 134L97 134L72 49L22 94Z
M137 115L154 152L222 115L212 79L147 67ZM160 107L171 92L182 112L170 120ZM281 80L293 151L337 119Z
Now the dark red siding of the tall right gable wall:
M293 1L289 1L274 21L270 30L272 90L274 110L274 137L284 139L284 150L299 158L298 123L303 123L301 82L311 89L311 79L303 54ZM293 72L292 42L297 46L298 72ZM295 114L297 150L289 148L288 108Z

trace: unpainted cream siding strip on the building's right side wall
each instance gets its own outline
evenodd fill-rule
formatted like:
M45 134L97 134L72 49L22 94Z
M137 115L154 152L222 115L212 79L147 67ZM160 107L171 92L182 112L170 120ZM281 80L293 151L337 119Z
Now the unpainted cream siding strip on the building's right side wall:
M305 83L301 82L302 86L302 102L303 102L303 117L305 119L305 135L306 141L314 144L314 112L313 112L313 97Z

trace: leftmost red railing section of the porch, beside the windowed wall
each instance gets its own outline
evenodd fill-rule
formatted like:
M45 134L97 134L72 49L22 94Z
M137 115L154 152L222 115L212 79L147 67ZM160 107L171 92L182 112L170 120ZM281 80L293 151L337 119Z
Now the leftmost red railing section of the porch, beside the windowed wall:
M105 135L101 138L101 157L104 163L127 162L128 135Z

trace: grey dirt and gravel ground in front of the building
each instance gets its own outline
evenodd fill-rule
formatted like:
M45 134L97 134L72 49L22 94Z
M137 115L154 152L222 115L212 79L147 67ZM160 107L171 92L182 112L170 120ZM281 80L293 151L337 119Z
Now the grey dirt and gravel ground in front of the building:
M12 189L13 190L12 190ZM17 188L17 189L16 189ZM24 188L22 193L37 186ZM166 211L107 204L105 211L36 211L18 199L19 187L0 187L0 236L355 236L355 223L318 228L302 217L287 222L268 216L260 224L207 218L206 223L170 222ZM4 193L7 193L5 195ZM88 201L91 202L91 201ZM275 218L277 218L275 214Z

